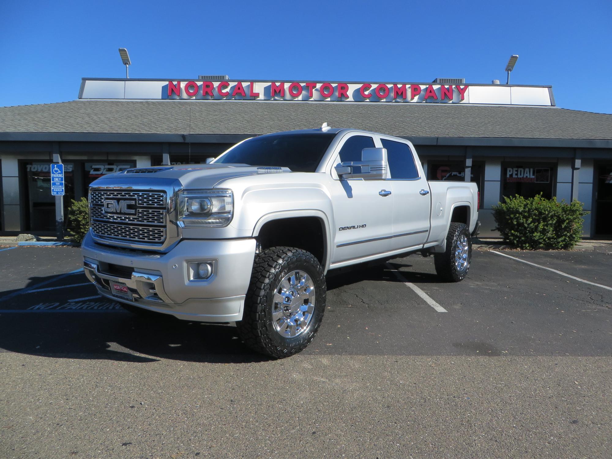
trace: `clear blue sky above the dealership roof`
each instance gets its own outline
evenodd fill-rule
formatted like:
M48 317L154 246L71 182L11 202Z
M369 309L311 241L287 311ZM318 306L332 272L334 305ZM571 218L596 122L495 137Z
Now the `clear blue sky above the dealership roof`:
M0 0L0 106L78 97L81 77L551 84L612 113L612 1Z

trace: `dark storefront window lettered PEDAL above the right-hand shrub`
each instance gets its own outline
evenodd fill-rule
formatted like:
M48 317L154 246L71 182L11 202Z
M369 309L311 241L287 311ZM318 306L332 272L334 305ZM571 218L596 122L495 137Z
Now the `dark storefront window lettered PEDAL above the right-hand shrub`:
M539 163L506 163L502 166L502 194L532 198L542 193L553 198L554 165Z

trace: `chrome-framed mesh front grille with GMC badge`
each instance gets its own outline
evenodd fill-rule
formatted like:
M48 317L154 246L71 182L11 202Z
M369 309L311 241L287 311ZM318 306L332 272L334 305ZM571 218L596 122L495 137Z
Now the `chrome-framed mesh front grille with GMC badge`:
M89 214L94 237L112 241L162 244L168 209L165 192L92 190Z

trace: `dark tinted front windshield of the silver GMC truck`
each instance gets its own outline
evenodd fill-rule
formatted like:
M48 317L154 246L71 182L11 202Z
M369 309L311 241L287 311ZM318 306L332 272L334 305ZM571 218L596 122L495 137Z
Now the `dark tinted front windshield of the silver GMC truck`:
M215 164L288 167L294 172L314 172L335 134L277 134L254 137L233 147Z

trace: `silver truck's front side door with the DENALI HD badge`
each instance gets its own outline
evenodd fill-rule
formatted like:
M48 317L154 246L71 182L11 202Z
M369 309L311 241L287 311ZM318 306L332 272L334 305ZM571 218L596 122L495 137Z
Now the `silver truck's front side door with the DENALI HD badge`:
M360 161L364 148L377 146L373 136L347 133L332 165ZM332 166L335 237L332 264L389 251L393 196L386 180L339 179Z

